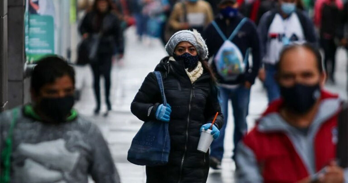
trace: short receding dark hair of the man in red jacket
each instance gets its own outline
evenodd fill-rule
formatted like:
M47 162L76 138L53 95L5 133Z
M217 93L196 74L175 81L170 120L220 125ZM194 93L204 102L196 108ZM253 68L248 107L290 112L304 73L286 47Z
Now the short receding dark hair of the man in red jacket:
M318 68L319 72L322 73L324 71L323 64L322 64L322 55L320 54L319 49L317 49L313 44L304 43L304 44L293 44L290 46L286 46L282 50L282 52L280 52L279 62L276 64L277 72L279 72L279 70L280 70L280 64L284 60L285 54L287 52L295 49L295 48L305 48L308 51L312 52L315 55L316 62L317 62L317 68Z

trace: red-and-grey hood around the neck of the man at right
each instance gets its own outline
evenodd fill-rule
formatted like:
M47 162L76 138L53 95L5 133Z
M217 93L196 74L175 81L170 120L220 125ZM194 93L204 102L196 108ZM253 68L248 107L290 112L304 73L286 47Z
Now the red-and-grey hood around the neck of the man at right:
M313 123L322 124L326 120L330 119L333 115L337 114L341 109L342 100L338 98L337 94L321 90L321 104L319 106L317 115L313 120ZM283 105L283 100L278 99L271 102L266 112L257 122L257 128L259 131L287 131L291 126L284 121L280 116L279 110ZM312 123L312 124L313 124ZM312 125L311 124L311 125Z

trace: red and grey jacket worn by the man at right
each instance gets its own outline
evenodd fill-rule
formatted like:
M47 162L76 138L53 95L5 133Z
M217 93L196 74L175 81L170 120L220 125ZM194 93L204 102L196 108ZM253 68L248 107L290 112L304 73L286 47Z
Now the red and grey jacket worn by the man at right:
M335 159L341 100L322 91L321 106L307 133L279 115L283 101L270 104L237 147L237 182L297 182Z

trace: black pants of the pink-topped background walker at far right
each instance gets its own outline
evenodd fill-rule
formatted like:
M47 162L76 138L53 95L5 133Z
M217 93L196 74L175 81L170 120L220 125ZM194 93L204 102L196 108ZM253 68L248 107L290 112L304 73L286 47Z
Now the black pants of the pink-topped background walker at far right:
M326 70L326 74L330 79L334 78L334 73L335 73L335 53L337 46L334 42L334 39L325 39L321 38L321 45L322 48L324 49L324 66ZM329 70L329 64L330 64L330 70Z

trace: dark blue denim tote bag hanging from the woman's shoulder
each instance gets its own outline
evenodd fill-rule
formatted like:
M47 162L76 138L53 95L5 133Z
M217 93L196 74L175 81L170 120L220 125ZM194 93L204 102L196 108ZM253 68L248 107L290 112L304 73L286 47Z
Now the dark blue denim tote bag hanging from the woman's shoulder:
M167 106L162 77L154 71L163 100ZM160 166L168 163L171 142L168 131L169 124L159 120L144 122L132 140L127 160L135 165Z

